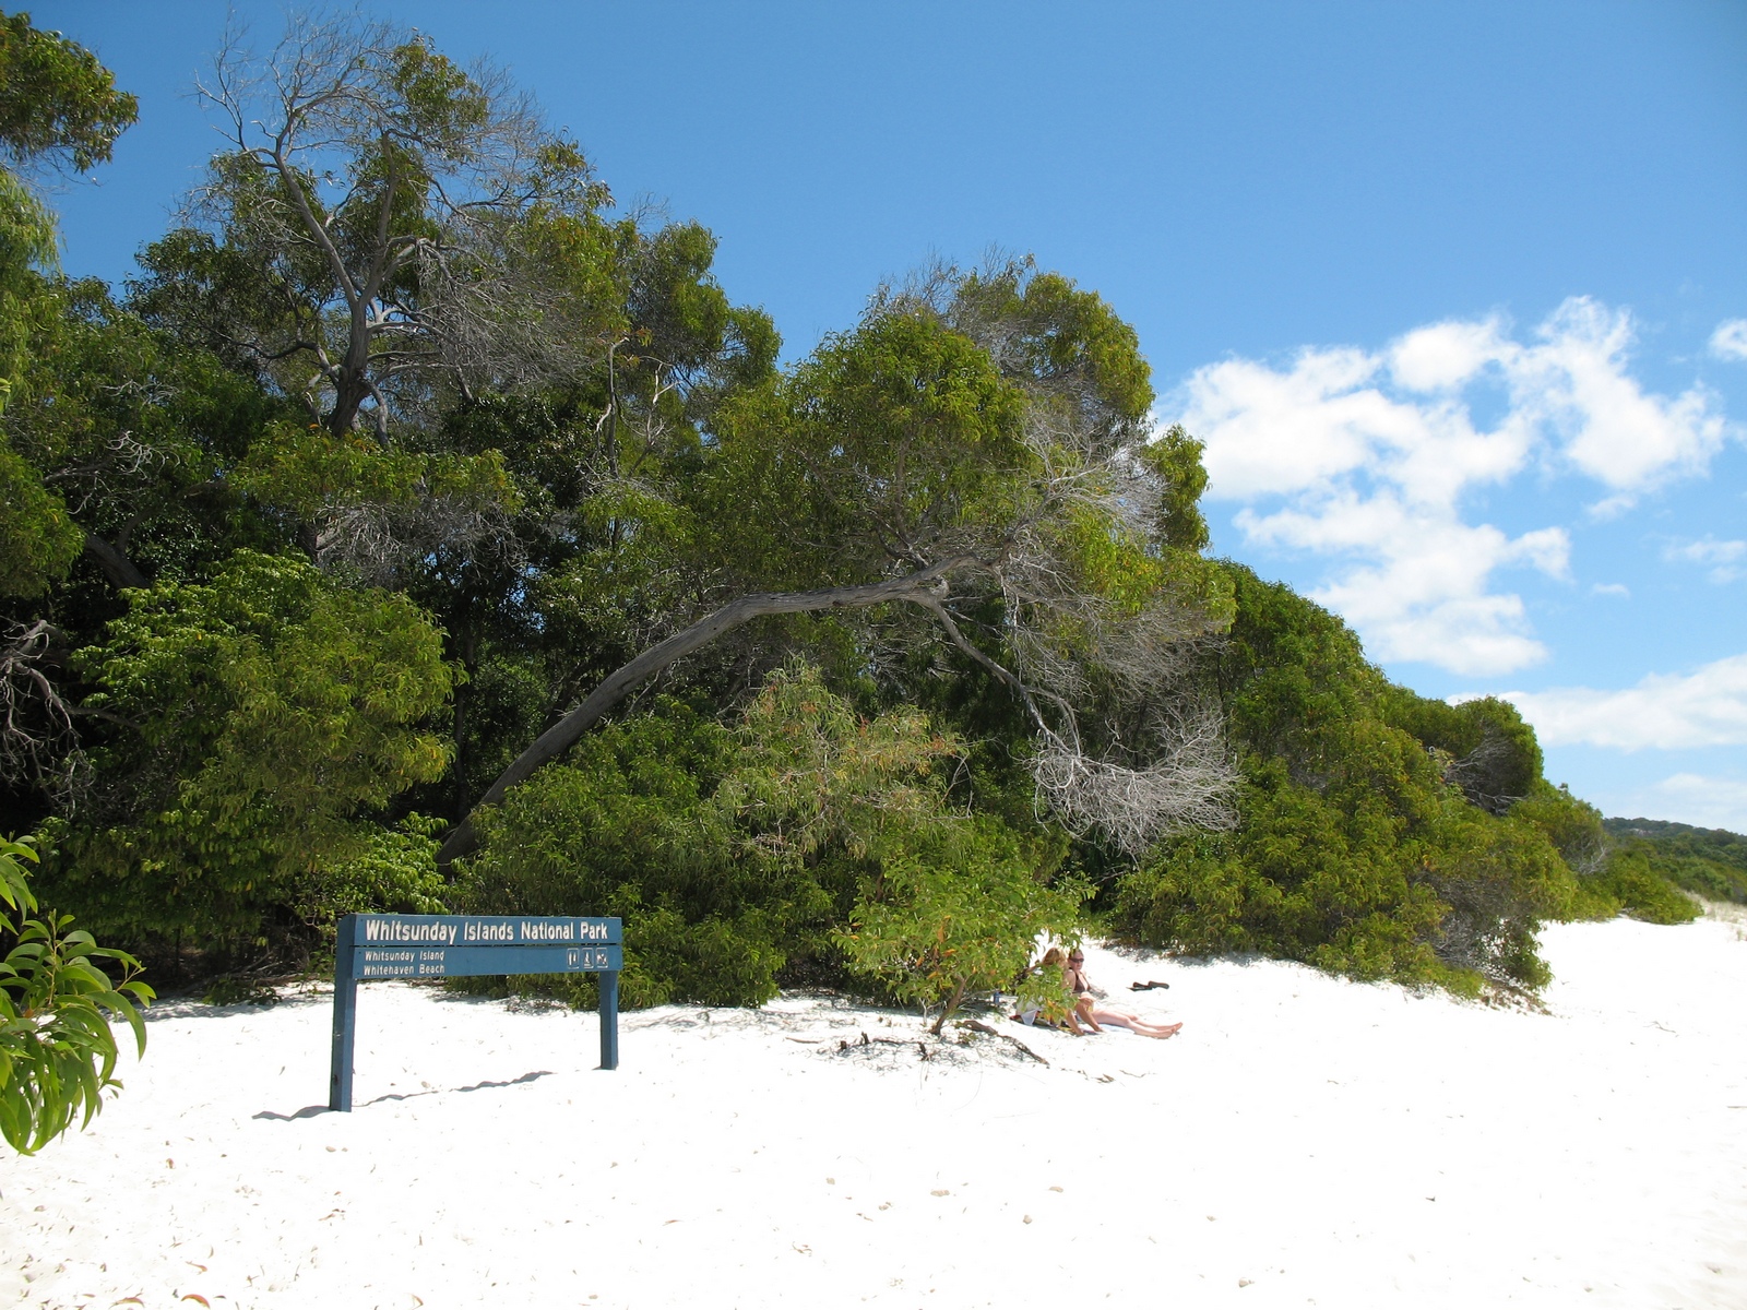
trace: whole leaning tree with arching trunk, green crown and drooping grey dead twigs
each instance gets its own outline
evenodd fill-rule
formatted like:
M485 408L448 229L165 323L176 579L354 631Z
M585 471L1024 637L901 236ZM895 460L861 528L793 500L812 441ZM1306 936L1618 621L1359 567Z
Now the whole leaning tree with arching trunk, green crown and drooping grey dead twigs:
M856 330L711 416L674 493L690 611L479 803L751 620L907 608L1024 706L1039 800L1069 826L1139 851L1228 821L1218 716L1174 700L1170 676L1230 597L1183 494L1198 447L1151 442L1150 403L1132 328L1066 278L1015 262L880 292ZM465 819L442 858L473 842Z

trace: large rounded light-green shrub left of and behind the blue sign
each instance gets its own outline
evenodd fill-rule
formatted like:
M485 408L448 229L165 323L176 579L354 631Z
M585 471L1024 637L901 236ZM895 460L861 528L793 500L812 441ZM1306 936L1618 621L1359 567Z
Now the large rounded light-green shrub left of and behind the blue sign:
M419 727L449 695L442 636L404 596L250 550L128 597L75 655L121 727L91 805L54 824L44 894L129 945L253 954L369 854L369 816L445 769Z

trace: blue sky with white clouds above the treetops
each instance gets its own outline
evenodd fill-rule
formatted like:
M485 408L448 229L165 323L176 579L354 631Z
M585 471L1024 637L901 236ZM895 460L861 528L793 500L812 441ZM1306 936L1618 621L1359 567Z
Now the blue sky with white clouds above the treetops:
M1219 554L1422 693L1511 693L1604 812L1747 831L1747 5L365 9L709 225L790 356L992 245L1102 292ZM197 178L225 10L33 7L142 103L58 196L70 272Z

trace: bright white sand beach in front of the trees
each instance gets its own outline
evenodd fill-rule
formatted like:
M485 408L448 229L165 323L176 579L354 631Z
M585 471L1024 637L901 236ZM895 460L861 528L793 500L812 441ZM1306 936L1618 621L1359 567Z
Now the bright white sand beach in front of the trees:
M1744 931L1553 926L1546 1013L1094 947L1186 1027L999 1024L1046 1065L784 997L603 1072L592 1015L372 983L351 1114L323 992L162 1004L0 1162L0 1305L1738 1308Z

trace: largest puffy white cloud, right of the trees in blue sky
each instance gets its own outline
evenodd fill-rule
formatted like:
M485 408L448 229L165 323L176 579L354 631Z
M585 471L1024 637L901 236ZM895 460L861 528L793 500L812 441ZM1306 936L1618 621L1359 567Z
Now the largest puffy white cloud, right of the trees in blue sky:
M1728 435L1710 393L1646 393L1628 372L1632 318L1565 300L1530 342L1499 318L1415 328L1389 348L1303 349L1286 367L1195 370L1169 421L1205 445L1209 501L1237 501L1253 543L1343 561L1314 596L1375 655L1495 674L1546 657L1522 597L1494 575L1569 578L1571 540L1467 522L1464 500L1530 466L1578 473L1599 514L1702 472ZM1476 424L1490 393L1501 416Z

